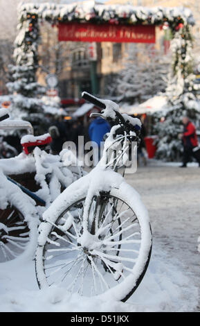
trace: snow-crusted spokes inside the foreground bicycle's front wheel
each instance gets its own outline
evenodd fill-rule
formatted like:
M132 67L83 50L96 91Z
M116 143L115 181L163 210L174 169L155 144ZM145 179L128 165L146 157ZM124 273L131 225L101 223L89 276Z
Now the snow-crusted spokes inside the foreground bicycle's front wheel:
M82 212L79 209L80 219L73 219L68 230L62 227L70 212L52 223L44 248L44 271L48 284L67 284L72 293L97 295L132 273L140 249L140 228L132 209L111 196L102 206L100 198L93 198L89 214L93 220L99 218L98 223L91 223L88 234L82 232Z

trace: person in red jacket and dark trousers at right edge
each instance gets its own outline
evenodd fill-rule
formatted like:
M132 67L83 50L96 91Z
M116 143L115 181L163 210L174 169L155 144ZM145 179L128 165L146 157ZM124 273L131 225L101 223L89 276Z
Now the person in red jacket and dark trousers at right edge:
M200 159L197 156L194 156L192 151L194 147L198 146L197 132L194 124L190 121L188 117L183 117L183 134L181 134L183 140L183 164L181 167L187 167L187 163L190 161L190 158L193 156L196 158L200 166Z

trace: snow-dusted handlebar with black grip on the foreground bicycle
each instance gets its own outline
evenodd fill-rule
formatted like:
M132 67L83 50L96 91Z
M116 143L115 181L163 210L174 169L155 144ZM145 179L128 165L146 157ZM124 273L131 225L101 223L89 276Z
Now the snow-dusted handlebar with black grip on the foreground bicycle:
M142 124L140 119L130 117L128 114L121 114L117 103L110 100L102 100L87 92L82 92L82 98L102 109L102 113L92 114L91 117L102 117L103 119L109 118L113 121L116 121L118 118L123 124L129 123L138 131L141 129Z

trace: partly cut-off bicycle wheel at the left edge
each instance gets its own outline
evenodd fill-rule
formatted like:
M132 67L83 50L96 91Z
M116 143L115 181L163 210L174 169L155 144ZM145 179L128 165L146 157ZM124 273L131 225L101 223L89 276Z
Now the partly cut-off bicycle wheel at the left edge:
M16 207L0 209L0 262L15 259L26 250L29 232L28 223Z

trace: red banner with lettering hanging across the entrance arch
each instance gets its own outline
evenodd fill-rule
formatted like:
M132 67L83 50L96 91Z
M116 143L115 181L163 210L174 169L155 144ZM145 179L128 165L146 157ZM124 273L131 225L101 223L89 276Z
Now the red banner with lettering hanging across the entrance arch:
M155 43L154 25L60 23L59 41Z

